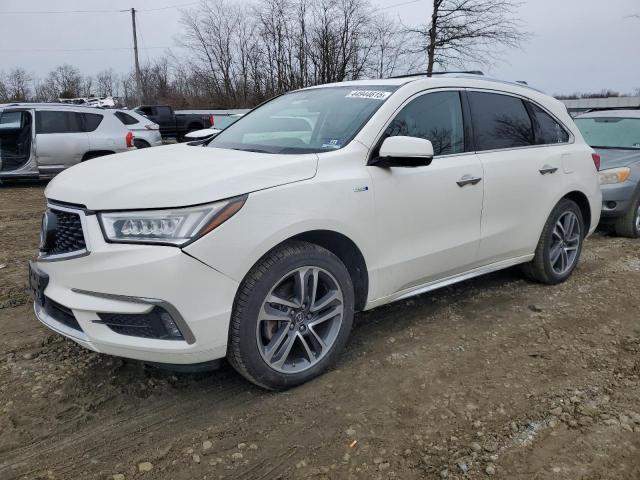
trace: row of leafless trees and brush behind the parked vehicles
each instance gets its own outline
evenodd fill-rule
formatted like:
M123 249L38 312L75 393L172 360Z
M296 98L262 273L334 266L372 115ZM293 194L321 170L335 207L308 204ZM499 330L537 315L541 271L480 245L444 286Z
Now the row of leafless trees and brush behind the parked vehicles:
M202 0L181 12L180 48L136 72L83 74L64 64L44 78L0 74L0 102L115 96L127 106L251 107L330 82L385 78L470 62L527 37L515 0L432 0L423 25L406 26L369 0Z

